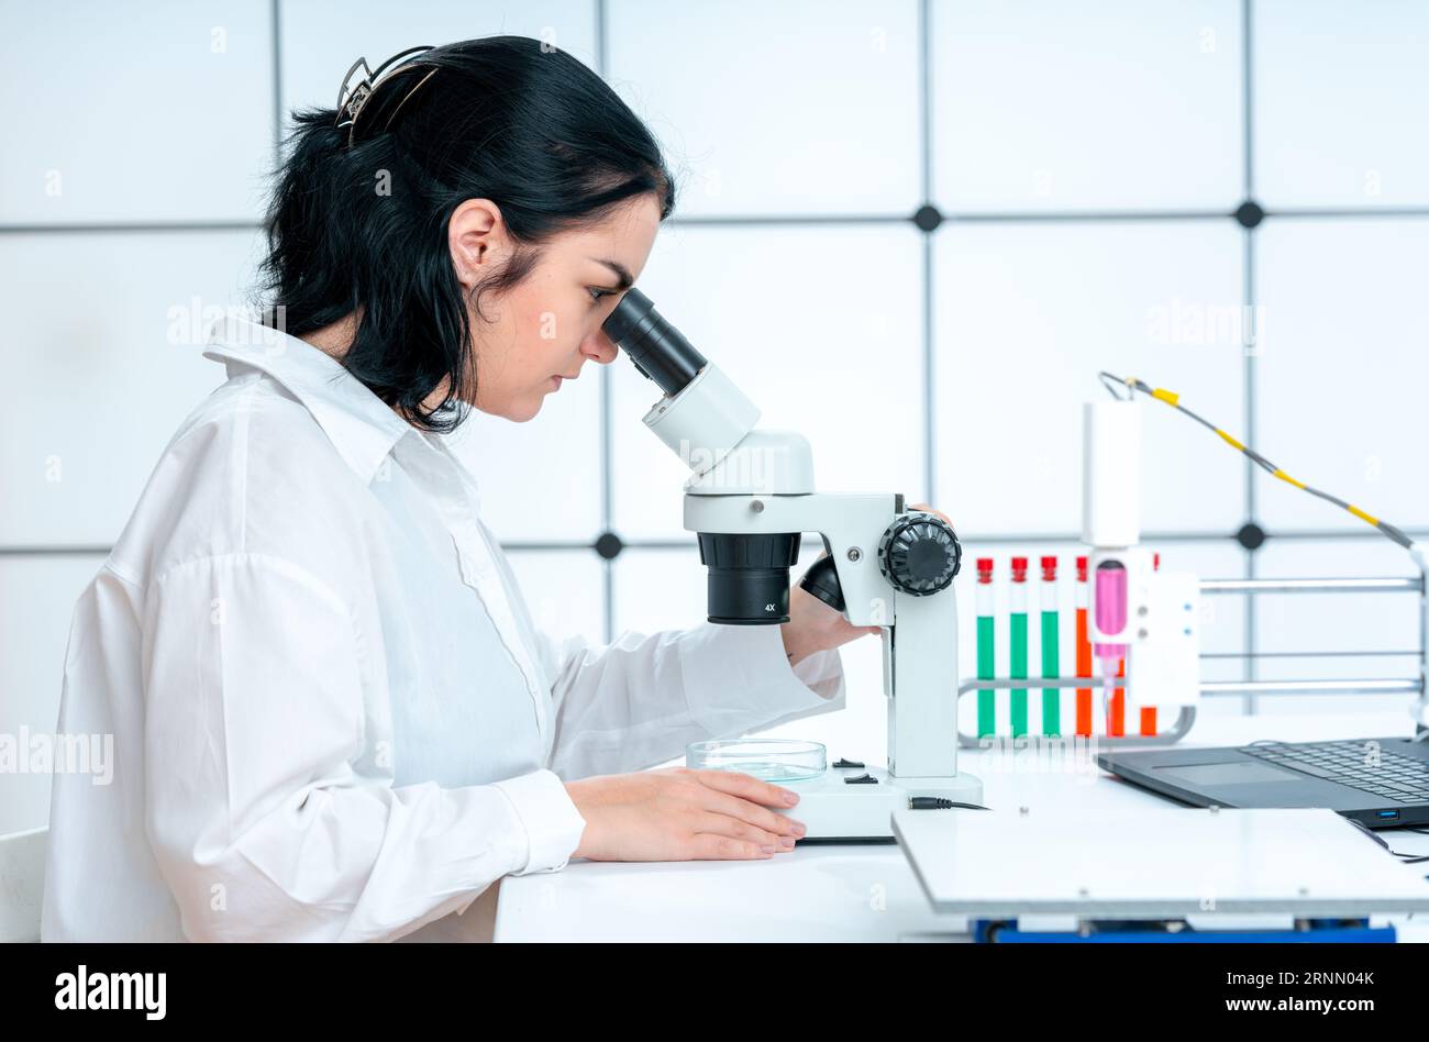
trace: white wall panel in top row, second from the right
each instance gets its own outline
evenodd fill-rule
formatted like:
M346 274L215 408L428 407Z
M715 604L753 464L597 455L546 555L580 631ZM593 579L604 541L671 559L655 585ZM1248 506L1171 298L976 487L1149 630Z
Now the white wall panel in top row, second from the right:
M932 9L939 206L1230 210L1239 202L1236 0Z

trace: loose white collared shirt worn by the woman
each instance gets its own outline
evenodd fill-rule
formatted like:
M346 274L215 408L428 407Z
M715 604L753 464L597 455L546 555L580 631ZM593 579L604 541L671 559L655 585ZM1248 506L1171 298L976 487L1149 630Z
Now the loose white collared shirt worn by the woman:
M227 382L74 609L59 732L114 763L54 776L44 939L462 936L567 863L562 779L842 708L837 653L790 669L777 626L557 645L442 439L284 333L206 354Z

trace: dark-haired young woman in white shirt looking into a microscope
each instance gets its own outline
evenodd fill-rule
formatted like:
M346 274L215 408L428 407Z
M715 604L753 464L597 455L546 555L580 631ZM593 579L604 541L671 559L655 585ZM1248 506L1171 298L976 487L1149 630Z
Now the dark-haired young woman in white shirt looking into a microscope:
M479 935L454 913L504 875L792 849L789 790L639 770L839 708L866 630L796 587L782 627L557 645L434 437L612 362L673 204L640 120L536 40L296 116L270 319L216 332L227 382L76 607L60 730L116 762L54 778L47 939Z

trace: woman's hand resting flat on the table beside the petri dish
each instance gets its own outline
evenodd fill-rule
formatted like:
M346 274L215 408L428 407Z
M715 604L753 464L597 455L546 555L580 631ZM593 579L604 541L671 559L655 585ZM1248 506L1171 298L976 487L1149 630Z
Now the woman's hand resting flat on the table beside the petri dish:
M567 782L586 830L573 858L742 860L792 850L805 826L772 806L799 796L750 775L667 768Z

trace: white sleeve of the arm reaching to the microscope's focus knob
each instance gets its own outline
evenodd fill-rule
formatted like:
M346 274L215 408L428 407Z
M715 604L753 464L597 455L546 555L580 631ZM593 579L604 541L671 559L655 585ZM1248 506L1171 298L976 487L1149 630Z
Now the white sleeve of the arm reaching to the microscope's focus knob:
M837 650L790 668L779 626L624 633L607 646L542 635L554 676L552 769L564 779L640 770L684 746L842 709Z

